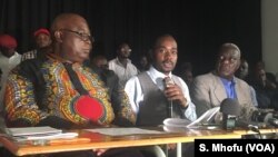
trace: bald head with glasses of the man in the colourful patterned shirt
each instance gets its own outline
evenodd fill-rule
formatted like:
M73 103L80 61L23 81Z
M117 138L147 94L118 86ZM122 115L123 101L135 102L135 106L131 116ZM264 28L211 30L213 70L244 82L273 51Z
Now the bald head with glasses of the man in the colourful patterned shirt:
M69 62L89 59L92 40L85 18L76 13L59 14L50 31L56 55Z

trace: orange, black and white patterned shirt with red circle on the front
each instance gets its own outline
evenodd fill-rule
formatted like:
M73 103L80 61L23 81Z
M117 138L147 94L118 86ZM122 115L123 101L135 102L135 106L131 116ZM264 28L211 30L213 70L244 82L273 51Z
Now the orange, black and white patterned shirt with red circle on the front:
M9 76L6 111L10 121L24 119L34 126L48 116L57 116L75 124L87 124L96 112L87 109L91 108L88 99L98 105L97 111L100 115L92 122L107 125L113 120L109 89L99 75L83 65L72 65L82 88L88 91L88 96L83 98L73 86L61 60L50 53L46 58L42 61L24 61ZM128 106L128 98L123 97L121 102L122 106Z

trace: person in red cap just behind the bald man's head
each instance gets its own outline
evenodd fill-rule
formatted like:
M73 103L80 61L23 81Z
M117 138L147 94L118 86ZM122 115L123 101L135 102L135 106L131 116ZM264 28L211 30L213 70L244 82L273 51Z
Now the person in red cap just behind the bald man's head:
M51 45L51 38L50 32L44 29L40 28L33 33L34 42L36 42L36 49L24 52L22 55L21 61L24 61L27 59L33 59L38 56L41 56L49 51L50 45Z

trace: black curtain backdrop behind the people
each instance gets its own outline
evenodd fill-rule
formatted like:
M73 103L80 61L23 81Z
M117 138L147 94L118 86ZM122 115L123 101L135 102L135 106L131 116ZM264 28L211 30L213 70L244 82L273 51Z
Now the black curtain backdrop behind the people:
M20 53L33 47L36 29L49 28L61 12L83 16L96 38L92 53L116 56L127 41L136 62L155 38L171 33L179 65L191 61L196 73L214 68L224 42L235 42L250 63L261 59L260 0L1 0L0 33L13 35Z

